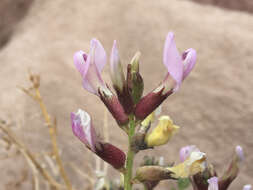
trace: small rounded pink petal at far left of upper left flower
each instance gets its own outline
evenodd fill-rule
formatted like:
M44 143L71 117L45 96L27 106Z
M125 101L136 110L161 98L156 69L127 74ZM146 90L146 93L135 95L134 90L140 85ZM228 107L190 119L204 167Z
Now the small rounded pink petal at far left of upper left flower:
M78 51L74 54L74 64L82 77L85 77L89 68L89 65L86 64L87 57L88 55L83 51Z

